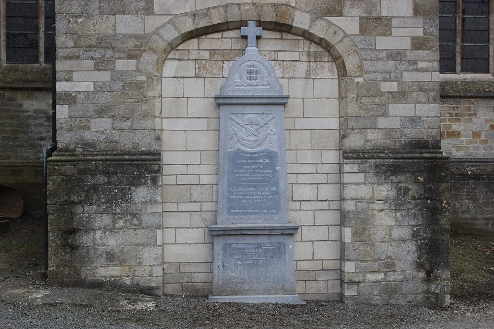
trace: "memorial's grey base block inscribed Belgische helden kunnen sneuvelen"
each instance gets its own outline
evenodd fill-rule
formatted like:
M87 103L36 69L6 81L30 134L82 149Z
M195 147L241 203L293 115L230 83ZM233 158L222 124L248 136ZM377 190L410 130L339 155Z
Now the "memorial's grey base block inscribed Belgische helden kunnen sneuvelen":
M214 235L213 293L209 301L303 304L296 294L293 271L292 232L298 225L252 226L209 227Z

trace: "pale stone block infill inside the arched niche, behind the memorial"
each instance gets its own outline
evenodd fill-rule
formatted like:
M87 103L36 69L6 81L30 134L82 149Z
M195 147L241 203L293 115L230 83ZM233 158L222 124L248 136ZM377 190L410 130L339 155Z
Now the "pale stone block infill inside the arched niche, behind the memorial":
M289 33L263 31L269 59L290 99L285 110L290 219L297 292L339 299L339 88L336 65L321 46ZM211 293L216 223L219 94L243 54L240 30L190 39L163 68L165 293Z

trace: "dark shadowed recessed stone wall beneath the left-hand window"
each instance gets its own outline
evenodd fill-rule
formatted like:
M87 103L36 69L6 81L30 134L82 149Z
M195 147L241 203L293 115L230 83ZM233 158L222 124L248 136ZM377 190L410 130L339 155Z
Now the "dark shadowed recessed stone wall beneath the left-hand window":
M40 211L42 151L51 142L51 91L16 90L9 83L0 80L0 184L21 192L25 213Z

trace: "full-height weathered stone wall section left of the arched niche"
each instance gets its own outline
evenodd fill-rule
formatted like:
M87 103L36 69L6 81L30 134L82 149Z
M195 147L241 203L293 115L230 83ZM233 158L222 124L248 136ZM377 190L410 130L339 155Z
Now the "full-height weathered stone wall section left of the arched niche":
M136 69L153 1L57 1L50 284L163 291L161 77ZM139 21L139 19L138 19Z

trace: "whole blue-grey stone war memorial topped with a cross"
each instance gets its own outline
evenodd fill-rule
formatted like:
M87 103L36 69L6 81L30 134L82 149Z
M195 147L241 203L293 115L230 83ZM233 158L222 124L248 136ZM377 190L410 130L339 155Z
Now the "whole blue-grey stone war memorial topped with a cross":
M209 301L304 303L296 294L288 219L285 104L273 65L259 55L255 22L242 28L246 54L221 94L217 224Z

